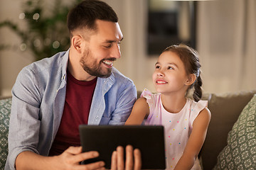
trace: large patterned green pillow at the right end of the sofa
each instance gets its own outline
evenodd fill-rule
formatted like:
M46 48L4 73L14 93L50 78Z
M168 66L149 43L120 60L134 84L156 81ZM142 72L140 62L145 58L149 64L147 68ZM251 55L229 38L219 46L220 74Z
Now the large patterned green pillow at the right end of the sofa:
M216 139L217 140L217 139ZM253 170L256 167L256 94L247 103L233 128L228 132L228 145L217 158L214 170Z

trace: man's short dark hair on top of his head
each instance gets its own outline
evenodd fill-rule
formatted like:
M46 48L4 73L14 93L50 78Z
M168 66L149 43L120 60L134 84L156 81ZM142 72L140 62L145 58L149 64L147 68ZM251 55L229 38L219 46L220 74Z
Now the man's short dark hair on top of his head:
M118 22L117 13L111 6L99 0L85 0L80 2L68 13L68 30L70 34L78 28L96 30L95 21Z

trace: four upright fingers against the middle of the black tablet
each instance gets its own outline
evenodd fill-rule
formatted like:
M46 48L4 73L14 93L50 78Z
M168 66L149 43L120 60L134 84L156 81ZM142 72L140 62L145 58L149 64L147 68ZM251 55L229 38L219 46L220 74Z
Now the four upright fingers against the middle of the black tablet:
M124 148L117 147L112 153L111 170L139 170L142 169L142 155L139 149L133 149L131 145L126 147L126 160L124 163ZM125 166L124 166L125 165Z

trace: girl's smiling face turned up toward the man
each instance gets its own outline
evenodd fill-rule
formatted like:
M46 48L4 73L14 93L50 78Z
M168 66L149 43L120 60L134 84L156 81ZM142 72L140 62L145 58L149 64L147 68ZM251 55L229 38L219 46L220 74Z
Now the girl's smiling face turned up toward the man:
M159 56L152 78L156 91L161 94L186 92L188 89L188 75L175 52L166 51Z

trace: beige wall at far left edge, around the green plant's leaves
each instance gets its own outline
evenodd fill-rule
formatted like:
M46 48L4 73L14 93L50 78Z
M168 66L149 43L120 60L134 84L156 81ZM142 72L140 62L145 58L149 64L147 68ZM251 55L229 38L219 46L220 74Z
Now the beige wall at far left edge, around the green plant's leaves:
M18 19L21 13L21 1L1 0L0 1L0 21L9 19L23 26ZM10 50L0 51L0 95L9 96L18 72L27 64L33 61L33 57L28 53L21 53L18 45L21 40L11 30L0 29L1 44L11 44Z

